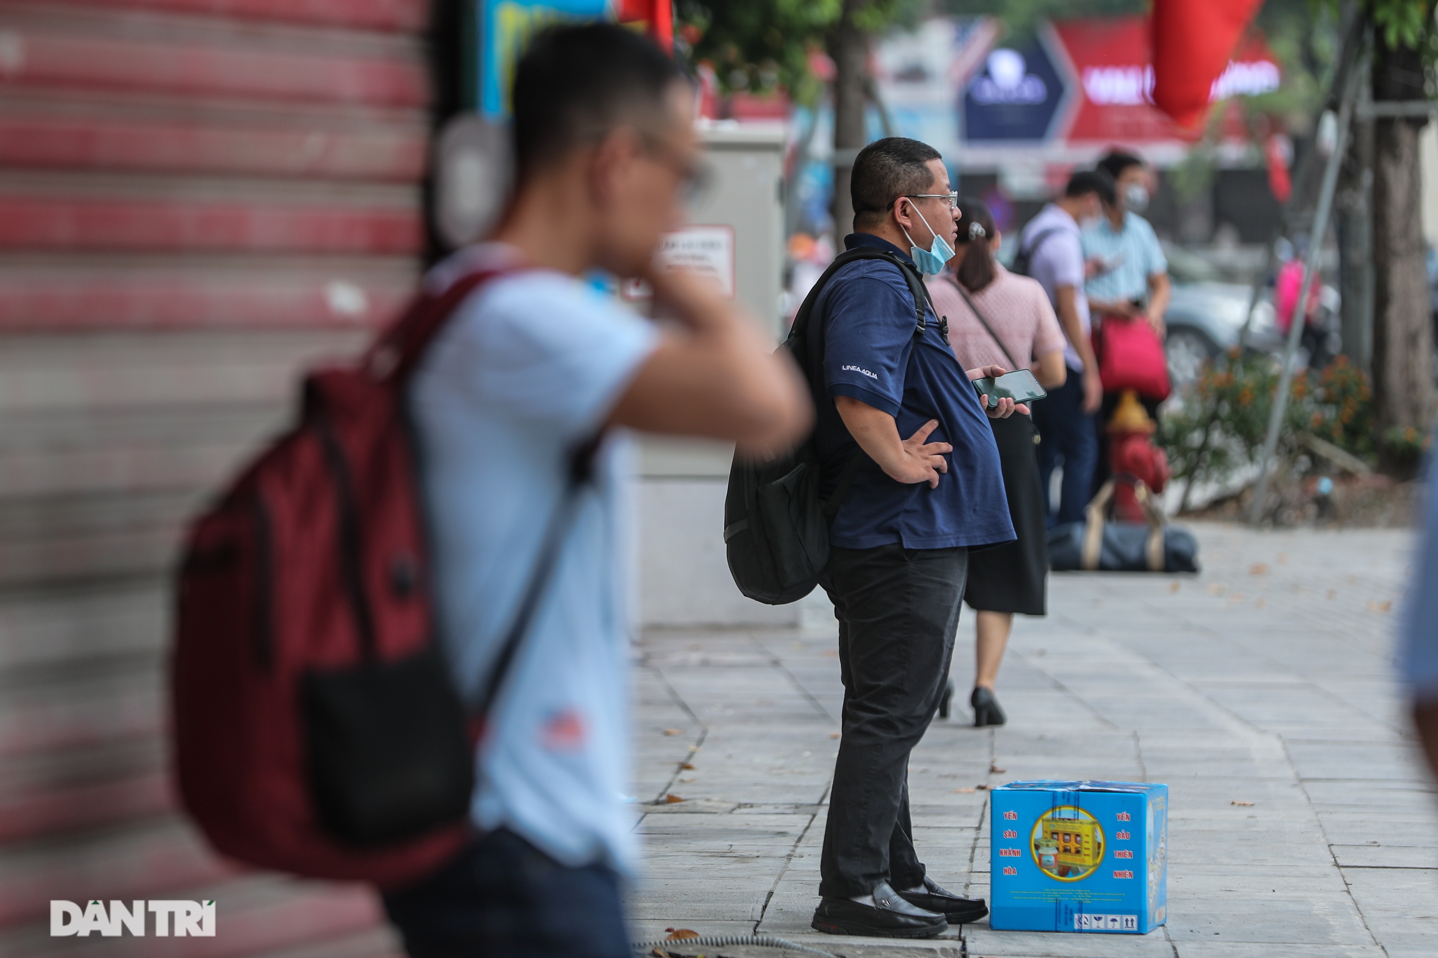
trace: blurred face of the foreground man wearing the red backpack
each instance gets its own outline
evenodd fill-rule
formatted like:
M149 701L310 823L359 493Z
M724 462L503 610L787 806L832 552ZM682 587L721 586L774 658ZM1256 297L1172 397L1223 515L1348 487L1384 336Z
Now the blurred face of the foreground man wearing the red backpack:
M598 264L617 276L641 273L663 234L683 223L680 192L699 172L687 83L674 83L664 112L651 128L613 131L591 168L591 195L600 217Z

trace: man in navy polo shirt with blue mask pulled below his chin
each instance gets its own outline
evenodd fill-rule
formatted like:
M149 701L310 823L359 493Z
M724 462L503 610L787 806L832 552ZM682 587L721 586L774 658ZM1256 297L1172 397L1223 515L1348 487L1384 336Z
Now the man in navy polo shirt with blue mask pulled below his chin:
M900 136L873 142L854 161L850 190L856 231L846 246L892 259L841 267L812 313L833 399L821 404L815 432L821 496L866 457L834 516L821 579L840 620L844 734L812 926L926 938L986 912L925 876L907 767L949 675L969 550L1014 539L994 434L971 382L1004 371L965 372L932 306L916 332L902 270L936 273L956 236L939 154ZM1014 409L1004 399L989 415Z

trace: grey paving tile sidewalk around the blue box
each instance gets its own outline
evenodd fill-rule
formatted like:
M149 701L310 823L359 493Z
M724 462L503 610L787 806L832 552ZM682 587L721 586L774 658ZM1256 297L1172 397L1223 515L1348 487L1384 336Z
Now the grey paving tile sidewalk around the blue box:
M1391 679L1409 537L1196 531L1198 577L1055 576L1048 618L1014 631L999 679L1009 724L975 730L956 708L909 770L930 875L985 898L984 787L1168 783L1168 925L1043 935L985 921L963 928L963 947L1034 958L1438 955L1438 794L1403 738ZM638 935L880 944L808 928L838 744L835 635L823 622L643 638ZM965 694L972 643L965 610L953 668Z

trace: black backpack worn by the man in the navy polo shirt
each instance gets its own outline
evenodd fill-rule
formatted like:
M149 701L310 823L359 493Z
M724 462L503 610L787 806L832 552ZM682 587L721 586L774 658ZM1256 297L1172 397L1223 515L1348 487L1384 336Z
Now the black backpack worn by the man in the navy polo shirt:
M923 336L926 327L925 303L933 304L917 270L893 253L873 247L840 253L804 297L789 335L779 346L789 350L804 371L815 408L830 402L830 398L821 368L824 326L820 323L810 330L810 313L828 279L854 260L889 260L899 267L913 293L915 339ZM948 340L948 323L942 319L939 330ZM729 572L739 592L768 605L787 605L814 590L828 563L828 524L866 458L863 450L854 452L834 494L820 501L820 461L812 435L768 461L735 452L723 503L723 541Z

